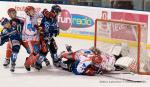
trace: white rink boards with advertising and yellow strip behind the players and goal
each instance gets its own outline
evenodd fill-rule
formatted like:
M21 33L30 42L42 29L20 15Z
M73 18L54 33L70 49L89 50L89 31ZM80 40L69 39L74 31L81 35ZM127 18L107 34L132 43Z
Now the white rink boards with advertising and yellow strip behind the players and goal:
M6 5L7 4L7 5ZM0 1L1 14L0 18L8 17L7 10L9 8L15 8L17 15L25 17L24 9L26 6L35 7L37 12L41 12L43 9L51 9L53 4L41 4L41 3L21 3L21 2L3 2ZM149 12L135 11L135 10L121 10L111 8L100 8L100 7L87 7L87 6L74 6L74 5L60 5L62 12L58 17L58 25L61 29L61 34L67 37L75 37L82 39L89 39L94 37L95 31L95 20L96 19L113 19L121 21L138 22L142 25L142 38L143 41L150 43L150 32L149 27ZM40 19L39 19L40 23ZM1 27L0 27L1 28ZM100 28L101 32L105 32L105 36L123 39L123 40L136 40L136 31L133 29L106 29ZM122 36L120 36L122 35ZM88 36L88 37L83 37ZM120 36L120 37L118 37ZM126 37L128 36L128 37Z

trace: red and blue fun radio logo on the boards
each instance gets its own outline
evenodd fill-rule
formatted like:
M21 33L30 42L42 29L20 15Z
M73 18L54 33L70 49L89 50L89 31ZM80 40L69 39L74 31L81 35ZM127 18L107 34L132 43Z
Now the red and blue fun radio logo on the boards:
M70 14L68 10L62 10L58 17L58 25L62 30L74 28L88 28L94 25L92 18L80 14Z

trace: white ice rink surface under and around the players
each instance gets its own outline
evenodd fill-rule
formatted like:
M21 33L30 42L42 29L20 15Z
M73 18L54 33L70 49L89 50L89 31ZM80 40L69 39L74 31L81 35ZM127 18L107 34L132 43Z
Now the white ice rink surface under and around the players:
M79 40L72 38L56 38L58 44L58 53L65 50L65 44L72 45L73 50L80 48L89 48L93 46L93 41ZM25 58L28 56L25 49L21 47L18 55L16 71L11 73L9 68L2 66L5 57L6 45L0 47L0 87L150 87L150 76L140 75L112 75L120 78L130 77L142 79L145 82L129 82L114 79L106 76L76 76L70 72L56 69L53 66L46 67L37 71L32 68L27 72L24 68ZM50 55L47 56L48 59ZM52 65L52 63L51 63Z

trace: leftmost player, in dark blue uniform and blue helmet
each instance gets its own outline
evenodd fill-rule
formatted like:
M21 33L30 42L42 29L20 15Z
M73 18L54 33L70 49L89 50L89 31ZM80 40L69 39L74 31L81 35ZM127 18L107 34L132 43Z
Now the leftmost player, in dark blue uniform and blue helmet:
M16 59L18 52L20 50L20 29L18 27L12 26L11 22L4 18L1 21L1 25L3 26L3 30L1 31L1 38L7 37L8 39L2 39L2 44L6 41L9 41L12 45L11 50L11 68L10 71L15 71ZM4 37L3 37L4 36ZM4 40L4 41L3 41Z

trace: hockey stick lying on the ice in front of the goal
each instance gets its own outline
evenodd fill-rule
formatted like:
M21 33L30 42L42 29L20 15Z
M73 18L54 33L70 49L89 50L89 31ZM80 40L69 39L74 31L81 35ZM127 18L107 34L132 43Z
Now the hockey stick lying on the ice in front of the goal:
M106 74L102 74L102 76L110 77L110 78L118 79L118 80L124 80L124 81L127 81L127 82L138 82L138 83L144 83L145 82L143 80L138 80L138 79L134 80L134 79L128 79L128 78L121 78L121 77L115 77L115 76L106 75Z

